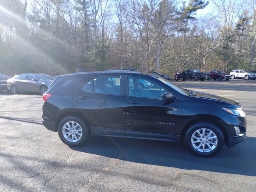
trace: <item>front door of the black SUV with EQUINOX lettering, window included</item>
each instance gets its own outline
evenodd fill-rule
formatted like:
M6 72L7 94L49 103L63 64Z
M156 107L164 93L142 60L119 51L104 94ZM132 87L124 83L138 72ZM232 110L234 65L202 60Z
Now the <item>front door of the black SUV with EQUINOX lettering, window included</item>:
M174 140L178 100L162 100L169 91L152 79L126 76L126 137Z

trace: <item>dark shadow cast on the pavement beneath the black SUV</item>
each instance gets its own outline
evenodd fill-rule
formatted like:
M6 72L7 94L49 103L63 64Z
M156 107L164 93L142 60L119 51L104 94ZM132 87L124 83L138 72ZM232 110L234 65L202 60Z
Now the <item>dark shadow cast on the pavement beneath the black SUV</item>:
M80 147L70 147L84 153L120 160L174 167L256 176L256 138L247 139L228 149L224 146L212 157L194 156L182 145L172 142L122 138L94 138Z

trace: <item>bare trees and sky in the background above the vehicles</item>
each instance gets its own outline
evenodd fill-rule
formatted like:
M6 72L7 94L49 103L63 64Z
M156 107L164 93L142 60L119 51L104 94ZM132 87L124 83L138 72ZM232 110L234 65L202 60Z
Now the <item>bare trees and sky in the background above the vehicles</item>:
M256 0L0 0L9 75L256 70L255 56Z

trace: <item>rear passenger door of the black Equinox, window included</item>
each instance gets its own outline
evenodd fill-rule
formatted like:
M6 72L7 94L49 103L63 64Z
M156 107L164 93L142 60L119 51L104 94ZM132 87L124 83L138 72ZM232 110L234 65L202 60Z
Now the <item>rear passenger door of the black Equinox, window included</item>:
M94 135L125 137L123 76L94 76L74 90L73 101Z

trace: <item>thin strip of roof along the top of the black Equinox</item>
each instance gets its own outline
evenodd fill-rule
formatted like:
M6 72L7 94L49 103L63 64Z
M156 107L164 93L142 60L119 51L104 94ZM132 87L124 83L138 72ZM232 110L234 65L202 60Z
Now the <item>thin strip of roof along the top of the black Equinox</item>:
M59 75L56 76L57 78L61 78L61 77L69 77L69 76L84 76L87 74L142 74L142 75L147 75L147 76L152 76L154 77L155 75L152 73L148 73L148 72L141 72L141 71L131 71L131 70L107 70L107 71L93 71L93 72L80 72L80 73L71 73L71 74L64 74L64 75Z

